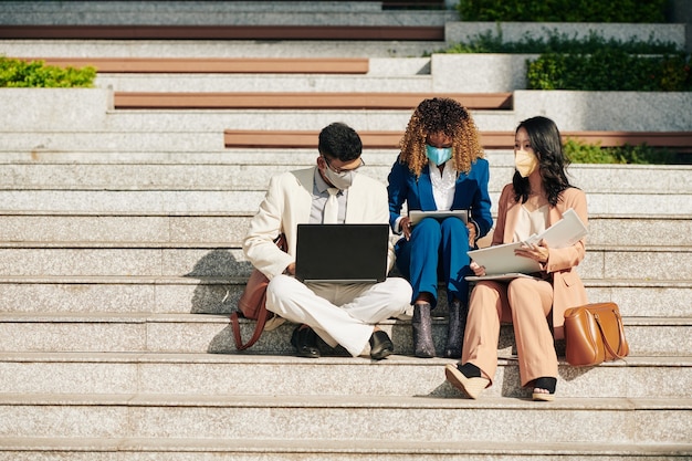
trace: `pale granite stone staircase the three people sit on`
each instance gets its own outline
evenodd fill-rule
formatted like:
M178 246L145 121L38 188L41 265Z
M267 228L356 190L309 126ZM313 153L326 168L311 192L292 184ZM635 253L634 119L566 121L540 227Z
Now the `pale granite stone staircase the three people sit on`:
M313 45L327 46L368 52ZM284 50L314 55L295 42ZM17 56L265 52L238 42L0 41L0 53ZM518 388L505 326L496 384L468 400L444 381L452 360L412 357L406 322L382 325L398 354L379 363L293 357L287 324L241 354L229 327L251 270L240 242L269 178L312 165L316 149L229 148L223 130L334 121L403 130L410 111L112 104L117 91L370 82L368 91L430 92L430 59L375 56L360 76L101 74L94 90L0 91L0 460L690 459L692 168L570 168L589 200L579 273L591 301L619 304L631 355L594 368L562 362L557 400L537 404ZM474 115L482 130L507 130L522 111ZM386 181L397 150L365 147L365 174ZM495 202L512 151L486 154ZM439 352L445 310L434 319ZM243 323L243 334L252 327Z

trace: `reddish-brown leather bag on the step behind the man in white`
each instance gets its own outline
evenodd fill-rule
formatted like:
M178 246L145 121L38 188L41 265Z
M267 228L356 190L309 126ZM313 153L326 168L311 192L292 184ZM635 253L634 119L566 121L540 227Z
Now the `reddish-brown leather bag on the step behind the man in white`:
M287 250L286 237L283 233L274 240L274 243L276 243L276 247L279 247L282 251ZM240 296L240 300L238 300L239 311L234 311L231 314L231 326L233 328L233 338L235 339L235 348L238 350L244 350L256 343L264 331L266 321L274 316L274 313L266 310L268 284L269 279L266 279L262 272L253 269L250 277L248 279L248 283L245 284L245 290ZM244 318L256 321L252 336L244 344L240 335L239 318L241 314Z

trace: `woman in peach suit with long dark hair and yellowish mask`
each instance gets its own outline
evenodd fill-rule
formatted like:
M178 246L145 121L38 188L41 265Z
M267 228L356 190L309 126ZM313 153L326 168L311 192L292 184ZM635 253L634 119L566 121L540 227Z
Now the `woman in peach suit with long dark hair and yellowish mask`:
M566 176L559 130L546 117L522 122L515 133L512 184L502 190L492 244L526 240L574 209L588 224L585 193ZM522 386L533 388L533 399L554 399L557 354L554 338L563 337L564 313L587 303L576 266L585 254L585 240L567 248L548 248L544 241L523 245L517 254L542 265L534 279L479 282L469 302L461 362L448 365L447 379L469 397L478 398L491 385L497 368L501 322L511 322L518 355ZM471 262L475 275L485 270Z

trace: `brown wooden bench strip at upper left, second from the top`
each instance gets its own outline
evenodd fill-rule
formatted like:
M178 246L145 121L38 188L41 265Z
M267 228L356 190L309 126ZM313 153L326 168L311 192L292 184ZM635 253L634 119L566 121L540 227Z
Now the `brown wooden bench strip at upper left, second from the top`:
M102 73L367 74L367 57L20 57Z

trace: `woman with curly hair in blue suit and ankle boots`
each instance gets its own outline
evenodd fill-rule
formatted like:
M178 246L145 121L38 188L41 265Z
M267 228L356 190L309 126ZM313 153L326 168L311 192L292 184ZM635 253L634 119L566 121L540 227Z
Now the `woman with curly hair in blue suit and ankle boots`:
M430 311L443 281L449 303L445 357L461 357L468 313L469 255L492 224L487 193L489 165L471 114L451 98L421 102L413 112L401 151L388 177L389 221L402 234L397 268L413 287L413 348L417 357L434 357ZM468 210L466 224L455 217L424 218L411 226L401 209Z

